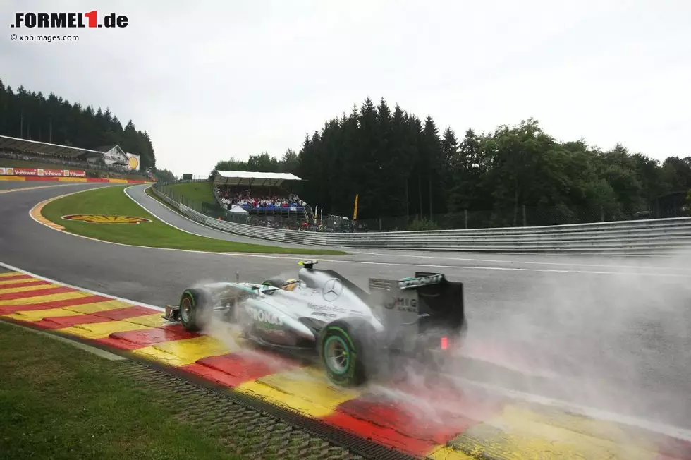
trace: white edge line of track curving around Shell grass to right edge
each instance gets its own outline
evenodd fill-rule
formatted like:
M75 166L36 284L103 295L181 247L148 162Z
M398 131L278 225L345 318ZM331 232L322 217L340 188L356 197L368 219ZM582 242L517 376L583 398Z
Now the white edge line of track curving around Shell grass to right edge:
M119 185L119 184L118 184ZM129 188L129 187L128 187ZM80 190L78 192L74 193L68 193L67 195L73 195L75 193L83 193L87 192L90 190ZM58 198L63 198L64 196L67 195L61 195ZM129 195L128 195L129 196ZM130 197L131 198L131 197ZM133 200L134 201L134 200ZM141 206L141 205L140 205ZM144 210L146 210L145 207L142 206ZM33 209L33 208L32 208ZM154 214L146 210L149 214L152 215L155 219L159 219L156 217ZM78 235L78 234L73 234L69 231L65 230L59 230L59 229L54 229L51 226L48 226L47 224L44 224L43 222L39 222L37 219L35 219L31 215L31 210L29 210L29 215L30 217L34 220L34 222L38 222L39 224L46 226L47 228L54 230L54 231L61 231L63 234L70 235L70 236L76 236L78 238L85 238L87 240L91 241L97 241L98 243L106 243L106 244L114 244L117 246L127 246L130 248L147 248L147 249L152 249L152 250L171 250L171 251L176 251L180 253L192 253L192 254L209 254L209 255L223 255L226 257L240 257L240 258L266 258L266 259L279 259L279 260L295 260L300 258L300 254L288 254L288 255L266 255L266 254L255 254L255 253L218 253L214 251L205 251L205 250L190 250L190 249L178 249L178 248L157 248L155 246L140 246L140 245L133 245L133 244L126 244L126 243L115 243L114 241L105 241L105 240L99 240L97 238L91 238L90 236L84 236L84 235ZM160 219L159 219L160 220ZM166 223L165 221L161 221ZM177 229L177 227L175 227ZM182 230L184 231L184 230ZM185 231L185 233L190 233L188 231ZM197 235L199 236L199 235ZM202 236L202 238L209 238L208 236ZM211 238L214 239L214 238ZM542 272L542 273L571 273L571 274L609 274L609 275L619 275L619 276L648 276L648 277L680 277L680 278L691 278L691 274L675 274L675 273L654 273L654 272L632 272L632 273L627 273L627 272L597 272L594 270L553 270L553 269L538 269L538 268L520 268L520 267L476 267L472 265L428 265L428 264L411 264L411 263L403 263L403 262L371 262L371 261L364 261L364 260L342 260L342 259L325 259L325 258L318 258L318 257L311 257L314 260L319 260L322 262L333 262L333 263L347 263L347 264L360 264L360 265L386 265L386 266L391 266L391 267L431 267L431 268L441 268L444 270L496 270L496 271L502 271L502 272Z

